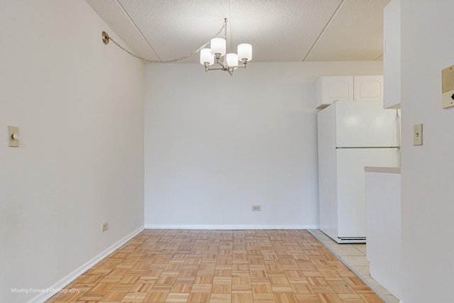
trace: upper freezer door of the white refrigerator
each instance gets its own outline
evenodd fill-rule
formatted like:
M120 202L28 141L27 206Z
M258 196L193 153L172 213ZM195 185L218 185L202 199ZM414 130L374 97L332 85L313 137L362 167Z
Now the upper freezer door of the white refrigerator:
M399 144L397 109L381 101L336 101L336 146L394 147Z

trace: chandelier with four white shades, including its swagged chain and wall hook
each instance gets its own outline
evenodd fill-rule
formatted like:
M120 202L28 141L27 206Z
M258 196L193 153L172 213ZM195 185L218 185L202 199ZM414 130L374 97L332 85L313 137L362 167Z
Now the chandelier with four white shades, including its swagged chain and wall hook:
M222 30L224 30L224 38L216 37L219 35ZM228 53L226 54L226 41L227 41L227 18L224 18L224 23L221 29L214 35L214 38L204 45L201 45L200 48L194 50L194 52L185 55L183 57L179 57L172 60L149 60L145 59L144 57L140 57L135 55L131 51L123 48L114 38L110 37L108 33L103 31L102 35L102 42L104 44L109 44L109 41L112 41L118 48L123 50L124 52L128 53L129 55L138 58L142 61L149 62L149 63L170 63L170 62L177 62L185 60L192 55L200 52L200 63L204 65L205 71L208 72L209 70L223 70L224 72L228 72L230 75L233 75L233 70L236 70L238 67L246 67L248 61L253 59L253 47L248 43L242 43L238 45L238 54L236 53ZM145 39L146 40L146 39ZM206 48L207 45L211 46L211 48ZM223 60L221 60L223 57ZM220 67L210 67L213 65L216 60L216 64L220 65ZM222 61L222 62L221 62ZM241 62L238 64L238 62Z

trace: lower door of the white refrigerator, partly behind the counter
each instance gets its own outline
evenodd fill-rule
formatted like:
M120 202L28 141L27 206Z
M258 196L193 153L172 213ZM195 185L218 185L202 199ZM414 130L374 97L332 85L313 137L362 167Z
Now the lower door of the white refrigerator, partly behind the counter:
M398 148L337 149L338 238L365 238L365 166L397 167ZM338 241L339 242L339 241Z

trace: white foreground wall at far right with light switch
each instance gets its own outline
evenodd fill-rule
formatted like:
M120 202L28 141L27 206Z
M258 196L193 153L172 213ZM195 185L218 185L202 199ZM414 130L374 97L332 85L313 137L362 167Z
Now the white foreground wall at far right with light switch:
M454 108L441 107L441 70L454 65L454 1L402 0L401 11L401 299L453 302Z

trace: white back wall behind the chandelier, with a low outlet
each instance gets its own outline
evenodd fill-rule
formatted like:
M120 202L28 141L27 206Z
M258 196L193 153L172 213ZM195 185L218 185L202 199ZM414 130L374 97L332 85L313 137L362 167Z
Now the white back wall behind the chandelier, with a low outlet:
M147 65L145 227L317 227L314 83L374 74L382 62Z

